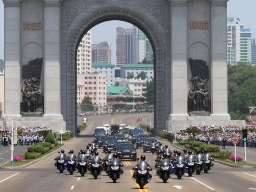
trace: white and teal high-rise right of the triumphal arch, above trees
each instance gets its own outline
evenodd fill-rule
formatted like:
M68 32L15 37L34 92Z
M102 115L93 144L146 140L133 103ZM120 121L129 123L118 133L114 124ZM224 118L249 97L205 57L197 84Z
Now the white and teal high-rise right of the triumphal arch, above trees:
M239 18L228 18L227 49L227 62L231 65L239 61L252 61L252 33L250 29L244 28Z

